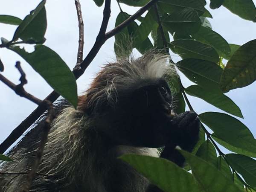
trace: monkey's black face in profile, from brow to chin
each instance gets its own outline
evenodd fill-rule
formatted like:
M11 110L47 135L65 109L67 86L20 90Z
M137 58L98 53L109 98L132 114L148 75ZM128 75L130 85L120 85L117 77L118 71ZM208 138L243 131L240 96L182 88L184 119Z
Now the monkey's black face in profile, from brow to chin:
M106 113L102 124L111 130L106 132L111 139L123 145L165 145L172 119L172 94L166 81L143 79L117 92L117 105Z

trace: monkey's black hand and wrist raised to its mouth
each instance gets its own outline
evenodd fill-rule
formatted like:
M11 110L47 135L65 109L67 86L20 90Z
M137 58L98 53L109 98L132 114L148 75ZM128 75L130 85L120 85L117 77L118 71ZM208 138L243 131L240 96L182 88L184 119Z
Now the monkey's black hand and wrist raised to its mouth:
M198 142L200 122L194 112L186 111L175 116L170 121L171 136L160 157L171 160L178 166L183 166L184 157L175 150L179 146L183 150L191 152Z

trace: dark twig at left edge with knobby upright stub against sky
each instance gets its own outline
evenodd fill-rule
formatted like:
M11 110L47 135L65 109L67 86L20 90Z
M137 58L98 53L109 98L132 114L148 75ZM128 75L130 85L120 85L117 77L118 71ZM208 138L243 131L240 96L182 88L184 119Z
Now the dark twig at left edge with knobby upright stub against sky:
M26 99L29 99L30 101L34 102L37 105L44 105L44 102L41 99L36 98L35 96L29 94L28 92L26 92L24 90L23 85L27 83L26 75L23 72L23 70L21 69L19 61L17 61L16 67L20 71L20 74L21 74L21 76L20 76L20 84L15 85L14 83L12 83L12 81L9 81L2 74L0 74L0 81L2 81L4 84L6 84L12 90L14 90L17 95L19 95L21 97L25 97Z

